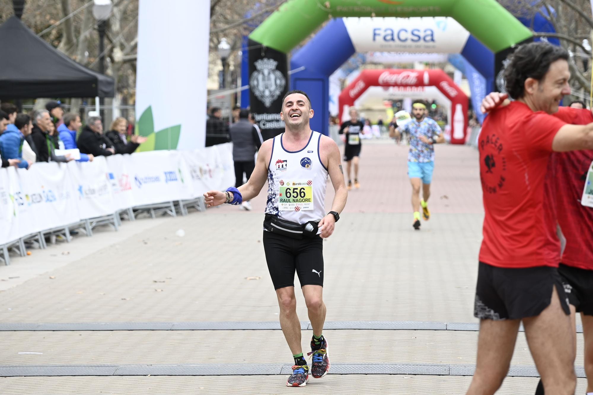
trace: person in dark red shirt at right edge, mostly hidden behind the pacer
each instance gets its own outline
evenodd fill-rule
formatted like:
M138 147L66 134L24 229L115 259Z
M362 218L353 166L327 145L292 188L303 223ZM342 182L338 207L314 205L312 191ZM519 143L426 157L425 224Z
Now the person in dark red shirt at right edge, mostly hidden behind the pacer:
M506 94L490 93L484 98L482 107L490 111L501 103L506 105L506 97ZM554 116L573 125L587 125L593 122L593 114L584 108L584 103L574 101L569 107L560 107ZM546 211L557 218L563 236L562 261L558 271L570 302L573 331L576 328L576 313L581 313L583 323L587 393L593 392L593 249L590 248L593 208L581 199L591 166L593 150L554 152L546 175L546 197L552 203L546 206ZM535 395L543 394L540 380Z

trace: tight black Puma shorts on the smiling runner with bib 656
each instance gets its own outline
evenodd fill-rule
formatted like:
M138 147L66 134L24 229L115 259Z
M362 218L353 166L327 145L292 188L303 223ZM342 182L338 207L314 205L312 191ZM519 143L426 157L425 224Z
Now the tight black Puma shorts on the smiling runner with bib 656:
M323 239L321 236L297 240L263 231L263 249L274 289L295 285L295 271L301 287L323 286Z

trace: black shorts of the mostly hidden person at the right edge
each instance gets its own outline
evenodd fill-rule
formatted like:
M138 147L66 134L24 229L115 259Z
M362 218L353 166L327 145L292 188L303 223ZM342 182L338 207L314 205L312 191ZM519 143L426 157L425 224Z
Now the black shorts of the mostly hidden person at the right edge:
M593 316L593 270L562 265L558 267L564 291L577 313Z

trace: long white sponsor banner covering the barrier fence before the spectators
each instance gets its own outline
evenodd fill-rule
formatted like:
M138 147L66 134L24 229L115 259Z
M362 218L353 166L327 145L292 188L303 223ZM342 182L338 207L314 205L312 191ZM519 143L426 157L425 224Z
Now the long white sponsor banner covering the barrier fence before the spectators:
M232 145L0 169L0 246L126 208L234 186Z

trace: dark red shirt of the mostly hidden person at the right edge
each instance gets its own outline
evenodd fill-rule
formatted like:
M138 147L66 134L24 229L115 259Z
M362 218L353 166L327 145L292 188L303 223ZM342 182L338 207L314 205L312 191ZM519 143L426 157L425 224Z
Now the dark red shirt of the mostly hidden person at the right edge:
M593 122L593 114L585 109L560 107L554 116L573 125ZM593 208L583 206L581 198L591 163L592 150L554 152L550 158L547 180L556 197L555 214L566 238L562 263L587 270L593 270Z

